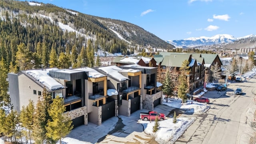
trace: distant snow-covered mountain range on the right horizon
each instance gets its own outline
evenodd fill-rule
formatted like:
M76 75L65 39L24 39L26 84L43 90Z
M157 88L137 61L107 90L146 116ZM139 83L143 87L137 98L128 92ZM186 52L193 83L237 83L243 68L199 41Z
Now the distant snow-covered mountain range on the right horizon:
M256 37L256 35L250 34L248 36L235 38L230 34L217 34L212 37L200 36L200 37L192 37L186 38L184 40L167 40L169 44L172 44L176 47L192 47L192 46L206 46L212 44L221 44L221 43L230 43L234 42L235 40L243 39L243 38L250 38Z

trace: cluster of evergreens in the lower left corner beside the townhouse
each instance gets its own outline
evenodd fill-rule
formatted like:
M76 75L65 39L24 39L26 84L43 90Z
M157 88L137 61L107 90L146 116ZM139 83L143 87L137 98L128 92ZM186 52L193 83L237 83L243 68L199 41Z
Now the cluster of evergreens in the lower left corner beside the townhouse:
M20 113L12 109L12 105L0 108L0 133L5 141L14 143L52 144L66 136L72 130L72 121L64 115L66 107L64 99L52 96L44 88L42 97L38 98L36 108L34 102L22 106Z

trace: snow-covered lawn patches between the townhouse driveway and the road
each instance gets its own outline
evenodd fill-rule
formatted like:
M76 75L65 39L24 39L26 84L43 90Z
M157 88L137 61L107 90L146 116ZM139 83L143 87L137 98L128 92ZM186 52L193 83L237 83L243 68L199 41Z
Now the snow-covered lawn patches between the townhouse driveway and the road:
M164 105L171 106L174 108L179 108L186 110L186 112L193 114L202 114L210 108L208 104L195 102L193 100L188 100L182 105L181 99L168 98L168 102L163 98ZM185 130L196 120L196 117L182 117L177 118L177 122L173 123L173 118L168 118L163 121L159 121L160 127L157 132L153 132L153 127L155 122L138 120L138 123L144 126L144 132L156 137L156 141L159 143L174 143Z

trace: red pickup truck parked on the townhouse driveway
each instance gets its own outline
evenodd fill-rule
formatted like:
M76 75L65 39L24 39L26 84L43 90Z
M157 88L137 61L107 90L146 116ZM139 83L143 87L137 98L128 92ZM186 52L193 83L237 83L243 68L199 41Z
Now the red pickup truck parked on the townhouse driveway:
M140 119L145 120L145 121L155 120L156 116L157 116L158 120L160 120L160 121L165 120L165 114L158 113L158 112L155 112L155 111L148 111L148 112L141 112L140 113Z

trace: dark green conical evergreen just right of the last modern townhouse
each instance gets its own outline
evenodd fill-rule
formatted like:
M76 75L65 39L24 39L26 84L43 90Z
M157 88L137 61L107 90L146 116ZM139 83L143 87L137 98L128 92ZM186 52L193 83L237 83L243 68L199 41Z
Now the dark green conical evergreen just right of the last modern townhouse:
M166 69L162 90L163 93L166 94L166 102L168 102L168 98L173 94L173 82L170 74L170 68Z

